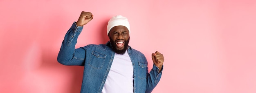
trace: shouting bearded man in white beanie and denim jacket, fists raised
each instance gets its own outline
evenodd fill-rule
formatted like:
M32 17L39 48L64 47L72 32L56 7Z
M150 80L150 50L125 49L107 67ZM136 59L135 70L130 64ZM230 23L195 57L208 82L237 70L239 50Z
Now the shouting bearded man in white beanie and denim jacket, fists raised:
M93 19L82 11L77 22L67 31L58 53L58 62L64 65L84 66L81 93L150 93L159 82L164 57L152 53L153 69L148 73L148 62L141 52L128 46L130 24L117 15L107 26L110 39L106 44L89 44L75 49L83 26Z

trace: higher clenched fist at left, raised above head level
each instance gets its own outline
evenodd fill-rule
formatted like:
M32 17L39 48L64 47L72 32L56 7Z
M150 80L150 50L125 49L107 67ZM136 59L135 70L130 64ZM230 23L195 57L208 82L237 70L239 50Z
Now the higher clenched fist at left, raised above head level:
M83 26L83 25L87 24L92 19L93 19L92 13L82 11L79 19L76 22L76 25Z

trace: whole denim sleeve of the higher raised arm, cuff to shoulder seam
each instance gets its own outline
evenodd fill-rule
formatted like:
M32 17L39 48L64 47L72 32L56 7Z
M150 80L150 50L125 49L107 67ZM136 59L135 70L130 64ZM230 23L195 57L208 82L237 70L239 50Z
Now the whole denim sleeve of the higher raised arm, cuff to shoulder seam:
M77 38L82 29L83 27L77 27L76 22L74 22L67 31L58 53L57 60L59 63L63 65L84 66L85 49L83 47L75 49Z

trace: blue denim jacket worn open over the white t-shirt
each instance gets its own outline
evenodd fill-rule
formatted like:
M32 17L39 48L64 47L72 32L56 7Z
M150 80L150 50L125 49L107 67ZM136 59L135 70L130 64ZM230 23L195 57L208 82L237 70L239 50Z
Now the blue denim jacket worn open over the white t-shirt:
M115 52L106 44L89 44L75 49L77 38L83 27L77 27L76 22L67 31L58 53L58 62L64 65L84 66L81 93L101 93L110 71ZM133 65L134 93L150 93L159 82L162 71L153 65L148 73L148 62L141 52L128 48L128 54ZM120 93L122 93L120 91Z

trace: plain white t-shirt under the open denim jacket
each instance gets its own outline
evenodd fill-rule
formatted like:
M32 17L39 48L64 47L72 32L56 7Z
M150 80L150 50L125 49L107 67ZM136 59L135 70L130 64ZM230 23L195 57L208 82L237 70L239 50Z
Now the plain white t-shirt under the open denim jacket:
M133 66L127 51L115 53L102 93L133 93Z

